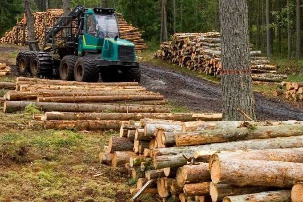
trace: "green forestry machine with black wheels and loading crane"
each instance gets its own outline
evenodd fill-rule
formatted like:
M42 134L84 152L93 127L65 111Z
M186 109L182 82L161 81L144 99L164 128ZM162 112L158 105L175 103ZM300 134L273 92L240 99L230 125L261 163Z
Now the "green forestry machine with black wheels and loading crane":
M115 9L77 6L68 16L54 17L45 29L43 50L28 42L18 54L20 75L97 82L140 81L134 44L119 38Z

